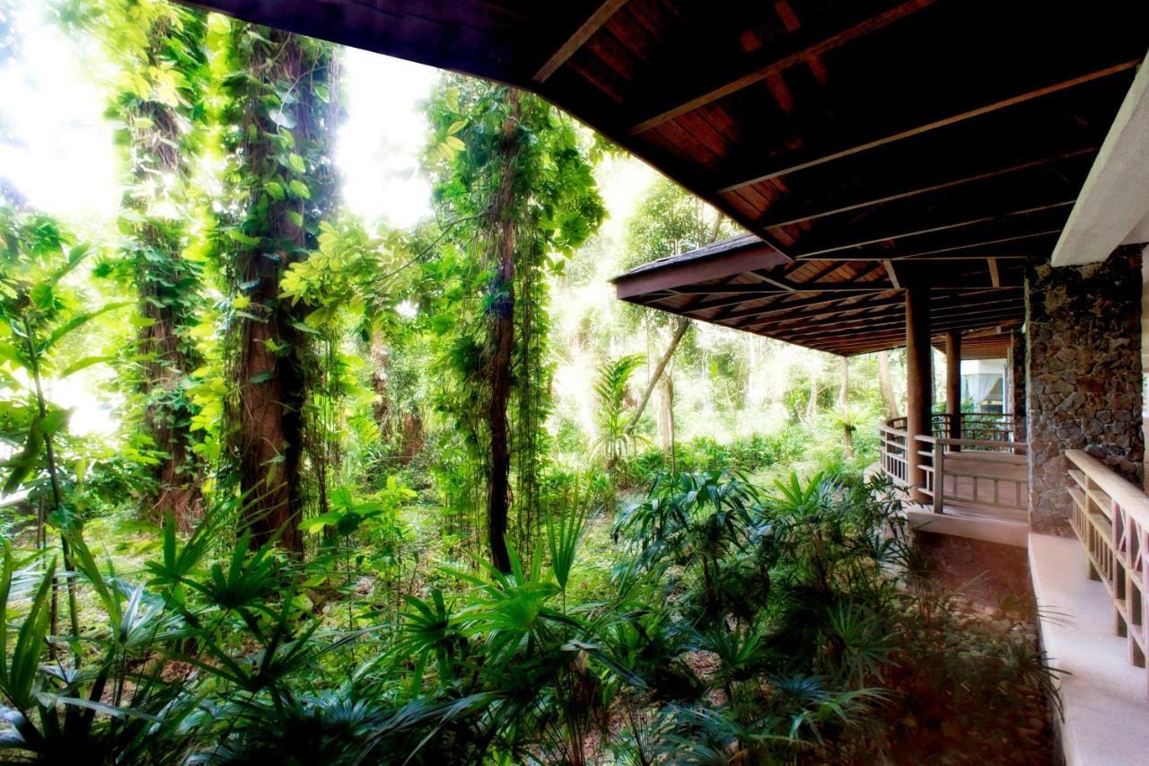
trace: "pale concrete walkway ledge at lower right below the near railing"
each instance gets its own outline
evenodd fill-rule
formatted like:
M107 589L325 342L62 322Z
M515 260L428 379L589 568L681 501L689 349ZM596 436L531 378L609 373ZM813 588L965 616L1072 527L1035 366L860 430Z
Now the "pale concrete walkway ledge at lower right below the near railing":
M1129 664L1113 633L1105 587L1089 580L1085 550L1073 537L1030 535L1030 570L1041 641L1059 680L1067 766L1149 763L1149 680Z

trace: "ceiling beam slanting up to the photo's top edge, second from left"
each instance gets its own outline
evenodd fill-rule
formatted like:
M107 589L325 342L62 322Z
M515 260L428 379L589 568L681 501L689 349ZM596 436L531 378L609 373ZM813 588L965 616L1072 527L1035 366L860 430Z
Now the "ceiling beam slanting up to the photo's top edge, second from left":
M794 47L793 45L791 45L792 49L786 55L779 56L774 61L765 66L761 66L750 72L732 77L731 79L722 84L712 85L708 87L704 92L699 93L697 95L686 101L681 101L679 104L664 108L657 114L654 114L650 117L647 117L642 122L638 123L637 125L632 127L627 131L627 133L630 136L637 136L639 133L651 130L653 128L657 128L664 122L668 122L676 117L680 117L684 114L688 114L696 109L701 109L708 104L714 104L715 101L725 98L732 93L737 93L745 87L749 87L755 83L761 83L776 75L779 75L786 69L789 69L791 67L803 63L805 61L818 59L828 53L830 51L833 51L834 48L843 46L848 43L853 43L854 40L857 40L861 37L864 37L877 30L880 30L884 26L887 26L899 21L900 18L904 18L910 14L913 14L918 10L921 10L923 8L928 7L935 0L909 0L909 2L902 2L876 16L866 18L865 21L858 24L854 24L834 35L830 35L828 37L815 40L812 43L807 41L805 44L800 45L800 47ZM801 35L796 35L795 37L797 39L802 39ZM785 43L786 40L784 38L782 41L779 44L779 47L781 45L785 45Z

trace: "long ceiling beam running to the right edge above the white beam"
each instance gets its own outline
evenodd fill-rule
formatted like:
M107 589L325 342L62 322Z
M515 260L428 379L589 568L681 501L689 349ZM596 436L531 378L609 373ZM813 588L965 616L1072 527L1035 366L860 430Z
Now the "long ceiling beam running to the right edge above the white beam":
M1010 108L1010 107L1013 107L1013 106L1018 106L1020 104L1026 104L1026 102L1032 101L1034 99L1040 99L1040 98L1042 98L1044 95L1050 95L1052 93L1059 93L1061 91L1064 91L1064 90L1067 90L1067 89L1071 89L1071 87L1077 87L1079 85L1085 85L1087 83L1092 83L1092 82L1094 82L1096 79L1101 79L1103 77L1109 77L1111 75L1116 75L1116 74L1119 74L1119 72L1128 71L1129 69L1136 68L1136 66L1139 63L1140 63L1140 59L1134 59L1132 61L1124 61L1124 62L1115 64L1112 67L1106 67L1104 69L1098 69L1096 71L1092 71L1092 72L1085 74L1085 75L1080 75L1078 77L1072 77L1070 79L1065 79L1065 81L1062 81L1059 83L1054 83L1054 84L1047 85L1044 87L1039 87L1039 89L1034 89L1034 90L1031 90L1031 91L1026 91L1024 93L1018 93L1017 95L1010 97L1008 99L1001 99L998 101L994 101L992 104L987 104L985 106L980 106L980 107L977 107L974 109L969 109L969 110L965 110L965 112L959 112L957 114L953 114L953 115L949 115L947 117L942 117L940 120L934 120L932 122L927 122L927 123L924 123L924 124L920 124L920 125L915 125L912 128L908 128L905 130L901 130L901 131L897 131L897 132L884 136L881 138L877 138L877 139L873 139L873 140L864 141L862 144L846 145L846 146L840 147L840 148L836 148L836 150L826 151L824 154L817 154L817 155L808 156L807 159L799 160L796 162L794 161L795 158L793 158L793 156L786 156L786 158L782 158L780 161L773 161L768 167L759 168L757 171L755 171L749 177L726 183L726 184L719 186L718 189L716 189L715 192L717 194L726 194L726 193L737 191L739 189L742 189L743 186L749 186L749 185L753 185L753 184L762 183L763 181L770 181L772 178L778 178L780 176L785 176L785 175L788 175L788 174L792 174L792 173L796 173L799 170L804 170L807 168L812 168L812 167L816 167L816 166L819 166L819 164L824 164L826 162L833 162L834 160L840 160L842 158L847 158L847 156L850 156L850 155L854 155L854 154L859 154L862 152L869 152L870 150L874 150L874 148L878 148L880 146L886 146L888 144L901 141L901 140L904 140L907 138L912 138L913 136L920 136L921 133L926 133L926 132L930 132L930 131L939 130L941 128L948 128L949 125L955 125L955 124L958 124L961 122L965 122L966 120L973 120L976 117L980 117L982 115L992 114L992 113L998 112L1001 109L1007 109L1007 108Z

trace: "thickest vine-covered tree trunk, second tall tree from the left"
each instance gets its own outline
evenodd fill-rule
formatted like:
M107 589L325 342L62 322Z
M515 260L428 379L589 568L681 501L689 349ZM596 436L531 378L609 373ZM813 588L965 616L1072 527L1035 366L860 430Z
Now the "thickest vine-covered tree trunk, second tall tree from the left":
M332 46L245 24L231 36L234 124L231 185L241 212L228 236L232 282L233 451L246 523L302 551L299 521L308 382L315 355L301 311L280 294L293 262L315 247L333 201Z

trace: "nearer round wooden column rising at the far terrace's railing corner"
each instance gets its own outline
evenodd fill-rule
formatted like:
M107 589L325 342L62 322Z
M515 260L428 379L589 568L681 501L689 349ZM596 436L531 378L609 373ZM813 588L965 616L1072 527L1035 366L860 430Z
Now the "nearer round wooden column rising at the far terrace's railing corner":
M905 290L905 431L907 431L907 482L910 498L925 503L921 492L925 485L925 459L918 454L926 447L916 437L931 434L933 409L933 366L930 345L930 288L913 284Z

